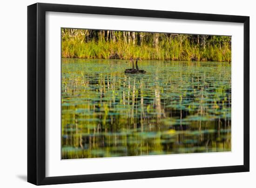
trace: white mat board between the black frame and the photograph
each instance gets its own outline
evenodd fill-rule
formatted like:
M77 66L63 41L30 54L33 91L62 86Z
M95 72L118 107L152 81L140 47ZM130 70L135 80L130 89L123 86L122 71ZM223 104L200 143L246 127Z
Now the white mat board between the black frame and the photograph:
M171 154L60 160L61 154L61 27L101 28L232 36L232 152ZM138 18L80 13L46 14L46 176L84 175L243 164L243 24ZM207 160L205 160L207 159ZM179 162L178 162L179 161ZM193 161L193 162L191 162ZM68 170L67 170L68 169Z

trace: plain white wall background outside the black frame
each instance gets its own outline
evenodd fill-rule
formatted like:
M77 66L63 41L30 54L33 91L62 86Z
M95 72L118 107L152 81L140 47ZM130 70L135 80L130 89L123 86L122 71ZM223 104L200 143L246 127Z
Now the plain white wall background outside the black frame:
M0 12L0 106L1 106L1 154L0 154L0 184L1 187L32 187L26 182L27 174L27 5L36 1L4 1ZM250 16L250 169L249 173L233 173L218 175L200 175L171 178L156 178L128 181L106 181L94 183L80 183L67 185L54 185L51 187L189 187L189 188L216 188L216 187L248 187L256 185L256 128L254 127L256 110L256 89L253 87L256 75L256 12L251 0L234 2L232 0L215 0L206 3L204 0L180 1L138 1L138 0L44 0L48 3L65 3L94 5L106 7L129 7L141 9L158 9L169 11L220 13Z

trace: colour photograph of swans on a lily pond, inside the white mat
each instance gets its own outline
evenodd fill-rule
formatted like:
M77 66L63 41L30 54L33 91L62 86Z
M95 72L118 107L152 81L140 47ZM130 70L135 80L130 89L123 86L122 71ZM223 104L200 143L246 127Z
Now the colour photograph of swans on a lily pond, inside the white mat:
M231 151L231 36L61 28L61 159Z

